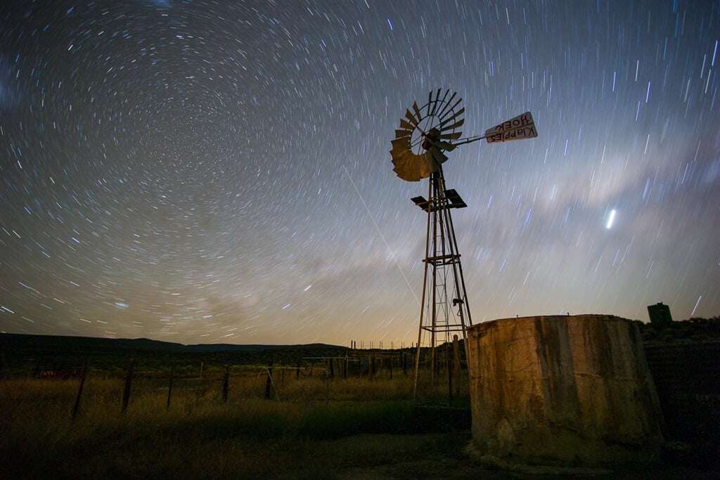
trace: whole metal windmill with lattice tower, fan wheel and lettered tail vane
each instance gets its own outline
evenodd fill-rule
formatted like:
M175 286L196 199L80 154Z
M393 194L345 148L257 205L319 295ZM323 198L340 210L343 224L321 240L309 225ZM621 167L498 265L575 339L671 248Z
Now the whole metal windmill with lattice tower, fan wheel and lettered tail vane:
M416 196L413 202L428 214L423 274L423 296L420 304L418 347L415 354L413 396L418 389L420 345L423 334L429 336L431 377L436 377L436 346L449 345L454 332L467 340L466 329L472 317L465 291L460 253L457 248L451 209L467 207L454 189L447 189L443 176L446 152L459 145L486 139L488 143L537 137L530 112L518 115L485 131L484 135L462 137L459 130L465 122L462 98L456 92L431 91L427 103L405 111L400 128L392 140L392 169L405 181L429 178L428 199ZM429 281L428 281L429 277ZM467 354L467 342L464 342ZM450 377L449 377L450 378Z

